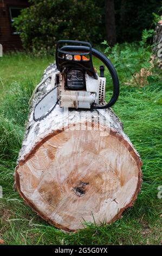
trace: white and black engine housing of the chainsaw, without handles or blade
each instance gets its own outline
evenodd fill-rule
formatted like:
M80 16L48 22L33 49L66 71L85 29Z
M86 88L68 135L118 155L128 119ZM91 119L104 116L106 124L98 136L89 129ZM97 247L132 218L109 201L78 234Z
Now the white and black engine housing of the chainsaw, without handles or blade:
M92 108L105 99L106 78L94 78L83 71L71 69L59 74L57 95L60 107Z

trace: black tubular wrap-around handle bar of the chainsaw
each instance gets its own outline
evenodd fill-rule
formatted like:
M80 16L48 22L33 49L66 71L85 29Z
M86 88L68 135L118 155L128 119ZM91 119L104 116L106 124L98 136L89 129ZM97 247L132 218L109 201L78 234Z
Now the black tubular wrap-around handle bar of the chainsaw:
M63 42L65 42L65 41L63 41ZM80 41L68 41L68 40L67 40L67 42L73 42L73 43L77 43L77 44L82 43ZM83 42L83 43L85 43L85 42ZM89 43L87 43L87 44L89 44ZM118 74L117 74L113 64L111 63L111 61L104 54L102 54L98 50L95 50L94 48L91 48L91 49L92 49L92 55L97 57L98 59L100 59L101 62L107 66L107 69L109 70L109 72L112 76L112 80L113 80L113 95L112 95L111 99L109 100L109 102L106 105L93 106L92 108L103 109L103 108L112 107L114 105L114 103L116 102L116 100L118 100L119 92L120 92ZM76 46L76 45L74 45L74 46L67 45L67 46L61 47L61 50L62 51L67 51L67 52L68 51L77 51L77 52L86 51L87 52L87 51L89 51L89 47L87 47L87 46Z

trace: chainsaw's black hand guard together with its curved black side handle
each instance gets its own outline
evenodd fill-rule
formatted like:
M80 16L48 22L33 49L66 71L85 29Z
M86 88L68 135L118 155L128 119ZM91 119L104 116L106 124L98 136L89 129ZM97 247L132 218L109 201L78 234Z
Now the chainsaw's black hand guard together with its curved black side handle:
M60 44L75 44L75 45L66 45L66 46L59 48ZM81 44L81 45L76 45L76 44ZM69 54L72 56L73 60L67 61L67 60L62 59L62 62L59 62L59 60L60 60L60 58L58 57L59 54L64 54L64 56L66 56L66 54ZM80 61L76 62L76 60L74 60L74 56L76 56L76 55L81 56ZM89 56L88 57L89 61L83 60L83 56L86 56L86 55ZM112 107L114 105L114 103L116 102L116 100L118 100L118 96L119 96L119 92L120 92L118 75L117 75L116 70L115 70L113 64L111 63L111 61L104 54L102 54L98 50L95 50L94 48L92 48L92 46L89 44L89 42L69 41L69 40L58 41L57 45L56 45L57 69L59 69L61 71L61 68L64 64L66 66L69 66L69 62L71 62L71 64L73 66L76 65L76 63L77 63L77 65L81 64L80 67L82 67L83 69L89 70L92 73L92 75L94 76L94 78L97 79L96 72L94 70L93 63L92 63L92 55L95 56L96 58L100 59L101 62L106 65L107 69L109 70L109 72L112 76L112 80L113 80L113 95L112 95L111 99L109 100L109 102L106 105L93 106L92 108L98 108L98 109L102 108L103 109L103 108ZM86 65L87 63L88 63L88 65Z

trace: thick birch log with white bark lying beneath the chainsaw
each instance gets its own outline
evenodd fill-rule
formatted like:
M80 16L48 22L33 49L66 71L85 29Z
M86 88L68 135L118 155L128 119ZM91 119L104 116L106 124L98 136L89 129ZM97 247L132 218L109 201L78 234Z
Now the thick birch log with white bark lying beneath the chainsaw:
M44 77L56 70L55 64ZM35 122L35 90L15 169L20 196L39 216L63 230L110 223L133 205L141 187L141 160L111 108L68 110L59 105Z

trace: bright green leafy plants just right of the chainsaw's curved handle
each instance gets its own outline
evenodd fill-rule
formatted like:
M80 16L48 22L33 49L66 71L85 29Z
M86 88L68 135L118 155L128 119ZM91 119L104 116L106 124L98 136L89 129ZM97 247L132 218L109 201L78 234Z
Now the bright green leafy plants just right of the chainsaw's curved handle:
M128 43L116 44L112 49L108 46L105 50L105 54L111 59L115 66L120 84L129 83L132 79L134 83L139 86L140 79L136 77L139 73L141 75L141 69L150 69L150 47L145 47L141 41L140 43Z

